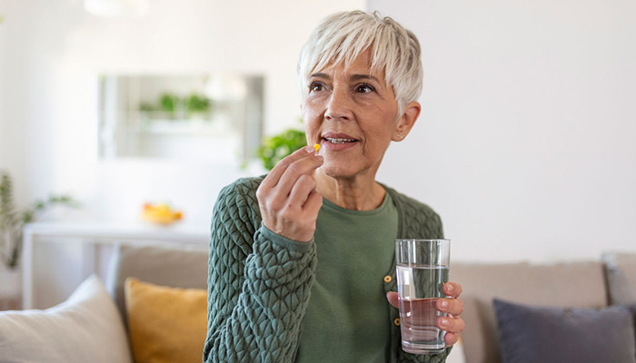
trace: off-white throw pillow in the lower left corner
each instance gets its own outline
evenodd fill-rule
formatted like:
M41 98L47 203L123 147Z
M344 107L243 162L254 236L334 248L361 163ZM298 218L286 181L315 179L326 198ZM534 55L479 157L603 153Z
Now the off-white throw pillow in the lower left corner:
M53 308L0 312L0 361L131 363L132 358L119 311L91 276Z

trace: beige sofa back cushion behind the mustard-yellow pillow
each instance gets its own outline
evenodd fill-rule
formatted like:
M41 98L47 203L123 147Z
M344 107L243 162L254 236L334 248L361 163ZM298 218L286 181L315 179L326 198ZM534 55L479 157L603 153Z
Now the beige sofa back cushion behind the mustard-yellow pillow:
M106 288L125 320L124 281L134 277L160 286L207 289L207 246L115 246Z

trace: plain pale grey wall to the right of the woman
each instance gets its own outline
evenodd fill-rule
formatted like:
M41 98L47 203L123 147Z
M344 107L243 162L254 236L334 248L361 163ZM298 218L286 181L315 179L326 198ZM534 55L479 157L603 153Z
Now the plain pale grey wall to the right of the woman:
M455 260L636 250L636 3L370 0L416 33L422 116L379 180Z

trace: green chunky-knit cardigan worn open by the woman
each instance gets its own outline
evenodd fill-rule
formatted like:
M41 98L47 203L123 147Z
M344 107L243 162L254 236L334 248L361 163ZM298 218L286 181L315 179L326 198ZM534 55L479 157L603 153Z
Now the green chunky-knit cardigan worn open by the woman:
M225 187L214 205L208 273L208 325L204 362L292 363L303 328L316 267L313 240L300 243L263 227L256 189L263 181L244 178ZM442 238L442 221L431 208L391 188L398 210L399 238ZM392 279L384 289L396 291ZM443 362L438 355L402 350L398 309L387 302L391 320L390 362ZM327 347L325 347L327 348Z

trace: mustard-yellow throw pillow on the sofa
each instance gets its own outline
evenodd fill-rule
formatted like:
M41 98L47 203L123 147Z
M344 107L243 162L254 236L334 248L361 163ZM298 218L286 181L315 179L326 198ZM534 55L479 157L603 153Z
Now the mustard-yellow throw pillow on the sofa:
M135 363L196 362L204 355L207 292L125 280L128 332Z

